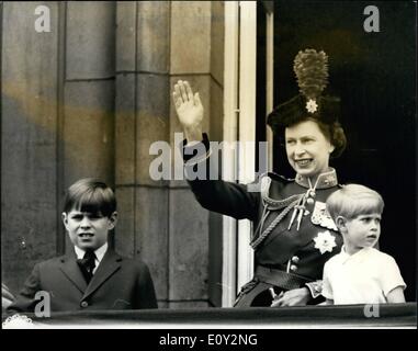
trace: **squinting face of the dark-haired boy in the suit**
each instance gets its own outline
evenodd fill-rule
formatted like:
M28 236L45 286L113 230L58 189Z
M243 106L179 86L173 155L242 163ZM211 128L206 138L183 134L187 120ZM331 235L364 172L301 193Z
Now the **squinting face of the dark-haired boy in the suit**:
M82 250L95 250L108 241L108 233L116 223L116 213L109 218L101 214L71 210L63 213L63 222L75 246Z

